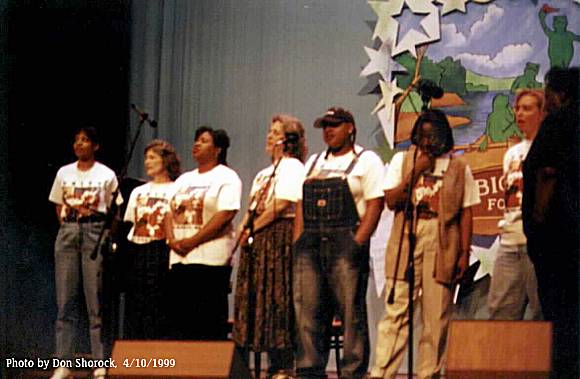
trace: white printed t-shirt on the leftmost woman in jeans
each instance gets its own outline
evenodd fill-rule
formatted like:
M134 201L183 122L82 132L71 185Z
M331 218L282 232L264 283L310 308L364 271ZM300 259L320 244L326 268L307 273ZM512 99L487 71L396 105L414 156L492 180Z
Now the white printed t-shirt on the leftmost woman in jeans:
M115 172L102 163L82 171L78 161L61 167L56 173L48 199L62 205L61 219L76 219L95 213L107 213L117 189Z

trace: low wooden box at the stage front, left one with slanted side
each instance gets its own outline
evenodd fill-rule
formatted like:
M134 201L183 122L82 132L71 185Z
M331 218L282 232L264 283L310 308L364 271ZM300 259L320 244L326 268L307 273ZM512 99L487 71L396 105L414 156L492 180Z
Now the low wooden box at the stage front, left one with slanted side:
M112 359L109 378L251 378L231 341L120 340Z

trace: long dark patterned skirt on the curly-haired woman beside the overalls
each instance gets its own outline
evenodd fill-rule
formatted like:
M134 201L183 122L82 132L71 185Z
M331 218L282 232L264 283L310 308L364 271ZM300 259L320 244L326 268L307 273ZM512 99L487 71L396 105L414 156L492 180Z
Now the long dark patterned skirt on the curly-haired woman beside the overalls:
M240 256L233 337L252 351L294 346L292 223L280 219L259 231Z

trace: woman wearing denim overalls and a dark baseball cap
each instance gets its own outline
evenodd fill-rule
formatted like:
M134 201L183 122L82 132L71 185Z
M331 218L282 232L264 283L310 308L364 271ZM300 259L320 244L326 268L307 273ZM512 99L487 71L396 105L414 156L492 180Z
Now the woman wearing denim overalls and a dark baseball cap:
M366 290L369 238L383 209L383 162L355 145L352 114L330 108L314 126L326 151L306 163L294 224L298 378L326 378L335 315L344 327L341 378L362 378L369 360Z

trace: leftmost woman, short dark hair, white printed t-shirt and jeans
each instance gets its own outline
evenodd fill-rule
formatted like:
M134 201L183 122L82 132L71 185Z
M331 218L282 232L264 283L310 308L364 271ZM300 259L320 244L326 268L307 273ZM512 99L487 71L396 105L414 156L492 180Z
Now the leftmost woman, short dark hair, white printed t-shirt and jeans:
M64 362L74 357L74 341L83 291L89 320L93 359L104 359L101 335L101 274L103 256L91 255L105 226L112 195L117 189L115 173L95 160L99 139L93 127L75 134L73 149L77 161L61 167L56 174L49 200L56 205L60 228L54 244L56 302L55 357ZM69 377L68 367L56 368L52 379ZM97 368L93 378L104 378L105 368Z

